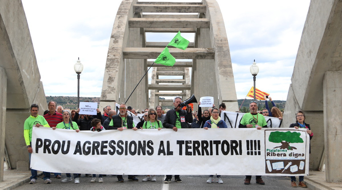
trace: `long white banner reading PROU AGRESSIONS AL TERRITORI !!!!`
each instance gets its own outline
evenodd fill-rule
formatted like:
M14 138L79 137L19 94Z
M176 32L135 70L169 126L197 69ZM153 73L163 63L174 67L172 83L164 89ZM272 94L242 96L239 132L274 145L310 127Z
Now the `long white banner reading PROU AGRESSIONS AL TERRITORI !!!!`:
M34 127L31 168L129 175L307 175L306 129L133 129Z

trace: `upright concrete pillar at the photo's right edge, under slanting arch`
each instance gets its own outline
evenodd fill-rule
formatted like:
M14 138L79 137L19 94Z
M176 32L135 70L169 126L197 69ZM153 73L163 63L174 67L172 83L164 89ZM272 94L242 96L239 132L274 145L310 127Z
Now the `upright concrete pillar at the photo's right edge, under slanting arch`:
M342 71L327 71L323 79L326 181L342 181Z

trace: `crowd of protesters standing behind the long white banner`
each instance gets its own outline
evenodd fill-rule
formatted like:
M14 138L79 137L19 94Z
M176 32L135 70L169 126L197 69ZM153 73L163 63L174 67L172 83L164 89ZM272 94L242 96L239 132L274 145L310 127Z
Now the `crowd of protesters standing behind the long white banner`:
M271 101L273 107L271 111L268 108L267 98ZM239 128L251 128L255 127L260 130L263 127L267 127L266 120L264 116L273 116L282 119L281 111L275 106L271 97L264 97L265 99L265 109L261 112L258 111L257 102L250 102L249 109L250 112L244 114L242 117ZM208 110L202 112L200 107L200 102L198 103L198 111L192 112L192 107L187 105L185 110L180 106L182 103L182 98L177 96L173 100L174 109L171 109L165 113L162 106L158 105L154 108L146 108L142 110L143 119L141 122L137 123L135 126L133 122L133 117L130 116L127 111L133 114L139 114L140 112L135 111L131 106L127 106L124 103L120 104L118 113L111 109L111 106L106 106L103 108L103 114L99 109L96 109L96 115L83 115L79 114L80 109L77 110L63 110L61 105L57 106L57 103L50 101L48 103L48 110L44 112L43 116L38 115L39 106L37 104L32 104L30 108L30 116L26 119L24 123L24 138L29 152L29 159L31 159L32 147L32 127L51 127L53 130L56 128L69 129L79 132L80 130L91 130L91 131L102 131L102 130L120 130L123 129L158 129L169 128L177 131L181 128L227 128L226 123L221 119L222 111L226 110L226 105L224 103L220 104L218 108L213 104ZM239 111L237 111L239 112ZM254 118L254 119L253 119ZM296 113L296 123L290 125L290 127L298 128L308 128L307 133L310 135L310 140L313 137L313 133L310 129L310 125L305 124L305 114L303 111L298 111ZM251 123L252 121L252 123ZM43 172L44 182L49 184L50 173ZM54 173L57 179L61 179L61 173ZM81 174L73 174L74 183L79 183L79 176ZM103 182L102 174L98 174L98 182ZM86 174L88 177L92 177L90 182L96 181L96 174ZM119 182L124 182L122 175L116 176ZM216 182L223 183L221 176L216 175ZM37 170L31 169L31 181L30 184L36 183L37 180ZM164 180L165 183L171 182L172 175L166 175ZM182 182L180 175L174 175L176 182ZM299 186L306 187L303 182L304 176L299 176ZM139 181L134 175L128 175L128 180ZM154 174L146 175L142 181L156 181L156 176ZM251 176L246 176L245 185L249 185ZM295 183L296 178L291 177L291 186L297 187ZM62 182L73 181L71 174L66 174L66 178L61 180ZM213 175L209 176L207 183L213 182ZM265 182L262 180L261 176L256 176L256 183L264 185Z

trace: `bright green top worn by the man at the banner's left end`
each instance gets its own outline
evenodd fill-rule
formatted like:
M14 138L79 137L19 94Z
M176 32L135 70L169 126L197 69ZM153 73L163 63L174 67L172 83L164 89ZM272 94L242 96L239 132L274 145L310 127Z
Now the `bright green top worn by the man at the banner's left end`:
M37 117L34 117L30 115L24 122L24 138L26 145L29 145L32 141L32 127L33 125L36 125L36 123L39 123L44 127L50 127L43 116L37 115Z

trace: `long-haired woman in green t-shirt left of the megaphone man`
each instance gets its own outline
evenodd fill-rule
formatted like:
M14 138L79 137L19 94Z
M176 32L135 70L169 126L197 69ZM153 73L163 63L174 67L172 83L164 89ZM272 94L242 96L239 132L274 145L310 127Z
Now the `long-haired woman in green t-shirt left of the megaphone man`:
M144 122L144 125L141 129L158 129L160 130L163 125L161 124L161 121L159 121L158 119L156 119L157 117L157 111L155 109L149 109L148 110L148 114L147 114L147 121ZM143 179L143 181L157 181L156 179L156 175L152 175L152 177L150 175L145 176L145 178Z

